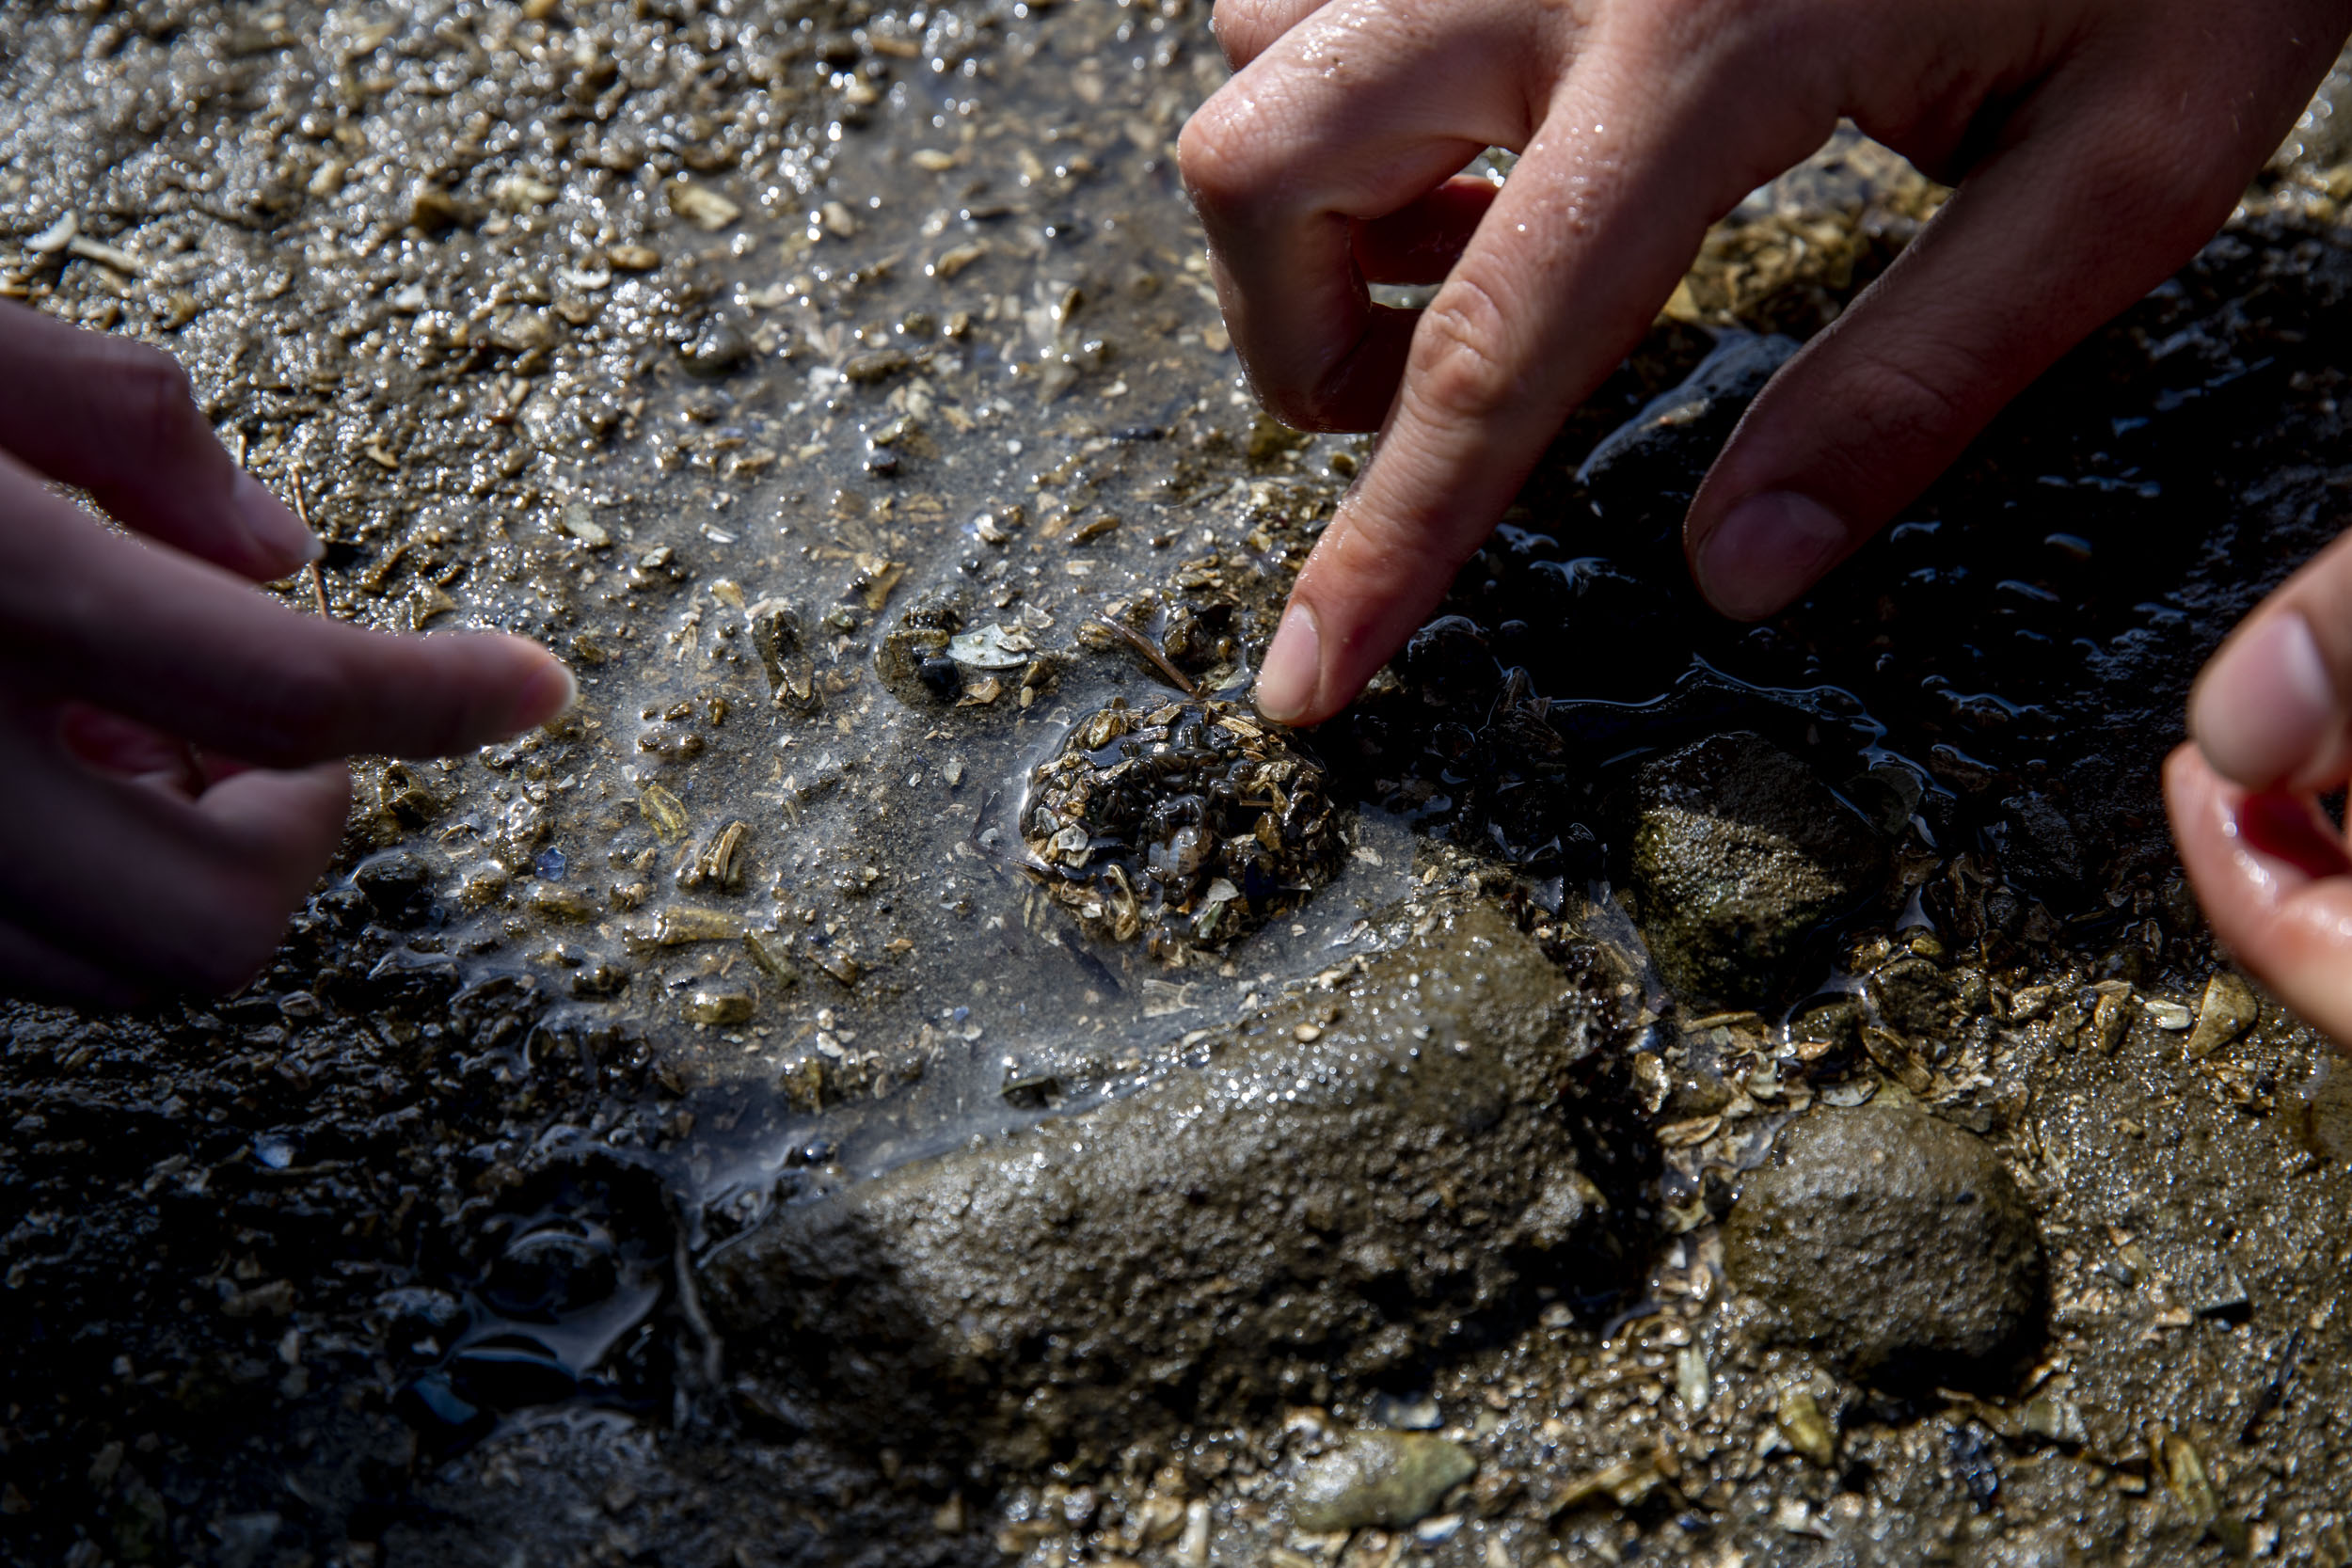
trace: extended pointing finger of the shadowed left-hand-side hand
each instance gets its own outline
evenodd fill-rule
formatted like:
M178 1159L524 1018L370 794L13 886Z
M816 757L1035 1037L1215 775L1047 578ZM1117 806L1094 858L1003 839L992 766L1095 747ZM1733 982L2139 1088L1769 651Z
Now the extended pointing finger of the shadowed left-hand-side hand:
M219 567L99 529L7 458L0 524L0 658L19 682L263 766L470 750L574 696L534 642L296 616Z

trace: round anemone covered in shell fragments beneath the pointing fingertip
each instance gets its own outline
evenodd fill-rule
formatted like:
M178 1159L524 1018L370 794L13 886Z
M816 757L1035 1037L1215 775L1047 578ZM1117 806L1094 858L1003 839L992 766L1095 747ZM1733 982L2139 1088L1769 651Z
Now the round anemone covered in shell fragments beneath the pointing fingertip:
M1216 698L1112 698L1030 778L1021 823L1047 893L1164 964L1289 914L1348 858L1329 776Z

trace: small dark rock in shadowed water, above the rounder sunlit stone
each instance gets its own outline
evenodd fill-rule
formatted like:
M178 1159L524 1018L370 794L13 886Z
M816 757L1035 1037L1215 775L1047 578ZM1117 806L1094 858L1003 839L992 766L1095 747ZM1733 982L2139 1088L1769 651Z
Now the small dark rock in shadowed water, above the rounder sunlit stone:
M1729 731L1635 780L1635 917L1689 1001L1762 1001L1825 919L1879 884L1870 825L1764 736Z

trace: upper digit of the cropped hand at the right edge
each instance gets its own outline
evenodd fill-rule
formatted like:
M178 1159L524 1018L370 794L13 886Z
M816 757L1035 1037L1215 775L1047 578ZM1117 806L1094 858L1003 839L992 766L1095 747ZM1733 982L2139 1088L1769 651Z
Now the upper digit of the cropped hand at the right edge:
M2352 762L2352 534L2246 618L2190 691L2206 764L2249 790L2326 790Z

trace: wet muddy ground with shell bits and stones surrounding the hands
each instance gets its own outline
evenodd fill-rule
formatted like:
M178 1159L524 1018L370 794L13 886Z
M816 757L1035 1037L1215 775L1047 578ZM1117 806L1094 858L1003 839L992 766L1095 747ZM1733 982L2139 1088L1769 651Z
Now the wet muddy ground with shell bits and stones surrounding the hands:
M12 1561L2352 1561L2347 1091L2154 795L2352 487L2340 80L1733 628L1682 501L1940 193L1839 139L1752 197L1303 741L1329 882L1152 954L1030 783L1247 682L1364 458L1237 381L1204 7L0 56L0 289L181 355L332 614L583 684L362 762L247 992L7 1009Z

